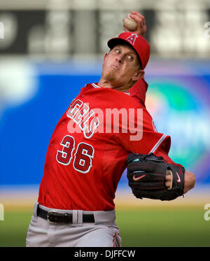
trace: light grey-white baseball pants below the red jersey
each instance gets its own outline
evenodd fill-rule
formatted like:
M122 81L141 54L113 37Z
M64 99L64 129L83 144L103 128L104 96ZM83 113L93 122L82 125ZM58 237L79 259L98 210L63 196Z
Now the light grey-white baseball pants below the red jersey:
M37 206L45 211L72 213L72 224L52 224L37 216ZM94 214L94 223L83 223L83 215ZM27 232L26 246L29 247L119 247L119 228L116 212L59 210L34 204L33 216Z

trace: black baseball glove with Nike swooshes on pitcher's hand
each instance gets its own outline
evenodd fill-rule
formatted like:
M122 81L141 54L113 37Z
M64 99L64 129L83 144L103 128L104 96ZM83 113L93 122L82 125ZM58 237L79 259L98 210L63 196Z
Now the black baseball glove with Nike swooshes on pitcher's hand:
M172 175L172 185L165 186L166 175ZM137 198L172 200L183 195L185 169L169 164L163 157L130 153L127 157L128 185Z

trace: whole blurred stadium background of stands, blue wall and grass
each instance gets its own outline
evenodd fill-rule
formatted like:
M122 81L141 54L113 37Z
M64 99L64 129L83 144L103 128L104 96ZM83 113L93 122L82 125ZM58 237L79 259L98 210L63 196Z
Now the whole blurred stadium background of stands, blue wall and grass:
M130 10L148 27L148 111L172 136L169 156L197 182L184 199L141 201L123 174L123 246L210 246L208 0L0 1L0 246L25 245L52 131L80 88L99 80L106 42Z

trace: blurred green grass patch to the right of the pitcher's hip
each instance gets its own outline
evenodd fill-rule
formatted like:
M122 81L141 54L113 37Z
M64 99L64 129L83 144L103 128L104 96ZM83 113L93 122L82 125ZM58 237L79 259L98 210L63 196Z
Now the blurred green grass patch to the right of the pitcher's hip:
M210 246L202 209L118 211L123 246Z

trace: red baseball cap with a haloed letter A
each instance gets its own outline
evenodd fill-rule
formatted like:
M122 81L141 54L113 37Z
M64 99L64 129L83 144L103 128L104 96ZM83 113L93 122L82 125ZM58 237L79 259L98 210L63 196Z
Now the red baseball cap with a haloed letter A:
M146 64L148 63L148 59L150 57L150 45L145 40L144 37L140 36L140 34L131 32L131 31L125 31L122 34L119 34L116 38L111 38L107 45L109 48L114 48L116 45L120 45L122 43L129 43L132 48L137 52L137 55L139 56L139 59L141 61L141 69L144 70L146 67Z

